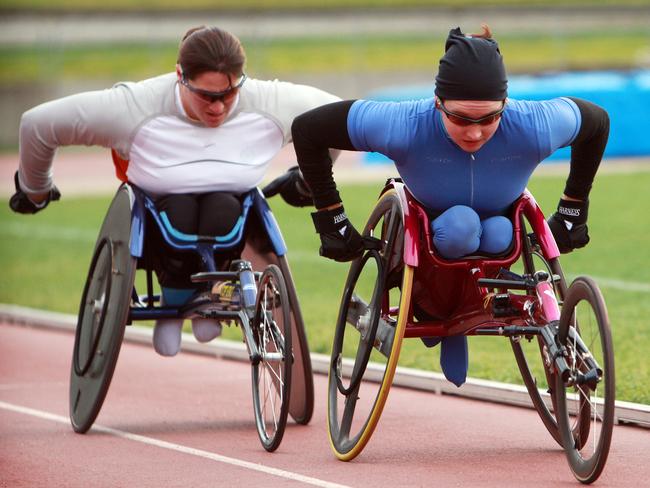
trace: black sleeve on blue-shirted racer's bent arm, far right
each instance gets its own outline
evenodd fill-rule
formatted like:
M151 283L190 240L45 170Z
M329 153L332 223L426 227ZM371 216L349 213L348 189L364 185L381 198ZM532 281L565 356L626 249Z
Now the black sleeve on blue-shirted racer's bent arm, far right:
M568 97L580 110L580 132L571 144L571 167L564 187L568 197L586 200L609 137L607 112L586 100Z

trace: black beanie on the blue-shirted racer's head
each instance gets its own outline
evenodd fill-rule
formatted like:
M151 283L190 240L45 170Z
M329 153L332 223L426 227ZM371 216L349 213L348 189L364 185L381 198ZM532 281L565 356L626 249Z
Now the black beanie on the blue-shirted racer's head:
M497 42L450 30L435 93L445 100L504 100L508 78Z

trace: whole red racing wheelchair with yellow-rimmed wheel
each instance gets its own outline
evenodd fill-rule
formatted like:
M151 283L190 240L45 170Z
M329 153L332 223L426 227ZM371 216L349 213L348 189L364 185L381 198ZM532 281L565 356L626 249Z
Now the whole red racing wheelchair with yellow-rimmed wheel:
M615 398L602 294L588 277L566 285L555 240L528 191L510 217L514 239L503 255L443 259L426 211L400 180L388 180L362 233L375 245L352 262L337 318L328 431L339 459L355 458L370 440L403 339L503 336L575 477L583 483L598 478Z

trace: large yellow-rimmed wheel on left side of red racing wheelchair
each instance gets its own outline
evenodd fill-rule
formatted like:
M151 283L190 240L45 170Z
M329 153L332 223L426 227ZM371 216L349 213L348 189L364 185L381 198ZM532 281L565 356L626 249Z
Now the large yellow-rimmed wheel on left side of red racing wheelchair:
M404 213L390 189L363 232L381 240L348 273L329 370L328 430L336 457L354 459L377 426L402 347L413 268L402 260Z

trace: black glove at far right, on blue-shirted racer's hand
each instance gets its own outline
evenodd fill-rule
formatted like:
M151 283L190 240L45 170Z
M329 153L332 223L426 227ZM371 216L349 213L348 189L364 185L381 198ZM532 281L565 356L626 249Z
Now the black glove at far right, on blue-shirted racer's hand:
M557 211L548 219L548 226L562 254L585 247L589 242L588 210L589 200L576 202L560 199Z

